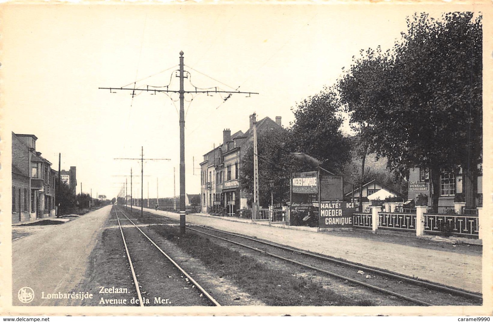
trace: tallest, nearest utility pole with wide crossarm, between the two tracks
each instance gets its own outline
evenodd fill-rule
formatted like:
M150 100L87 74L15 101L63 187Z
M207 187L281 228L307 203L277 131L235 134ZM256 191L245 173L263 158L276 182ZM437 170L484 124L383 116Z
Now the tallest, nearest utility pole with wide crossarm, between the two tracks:
M178 70L179 77L180 79L180 88L179 90L171 90L166 86L166 89L155 89L147 86L147 88L128 88L128 87L99 87L99 89L109 89L110 92L112 90L131 90L132 91L132 97L135 95L135 91L149 91L149 92L174 92L179 94L179 100L180 100L180 111L179 111L179 125L180 125L180 233L184 234L185 233L185 109L184 109L184 100L185 100L185 93L190 93L190 94L200 94L200 93L207 93L207 94L213 94L213 93L223 93L223 94L229 94L226 98L223 100L226 101L229 99L229 97L232 94L248 94L250 96L251 94L258 94L258 93L253 93L253 92L241 92L238 91L238 89L234 91L226 91L226 90L217 90L217 87L213 87L210 89L206 90L199 90L197 87L194 88L194 90L190 91L185 91L184 89L184 79L190 78L190 73L187 72L187 76L185 77L185 71L184 71L184 64L183 64L183 51L180 51L180 57L179 57L179 70Z

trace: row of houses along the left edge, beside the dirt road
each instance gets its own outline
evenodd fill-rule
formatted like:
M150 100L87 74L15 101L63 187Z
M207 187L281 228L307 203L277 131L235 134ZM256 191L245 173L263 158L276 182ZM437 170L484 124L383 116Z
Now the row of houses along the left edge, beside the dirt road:
M58 173L36 150L36 140L34 134L12 132L12 223L56 215ZM61 173L75 193L75 167Z

